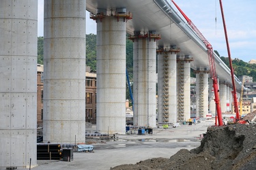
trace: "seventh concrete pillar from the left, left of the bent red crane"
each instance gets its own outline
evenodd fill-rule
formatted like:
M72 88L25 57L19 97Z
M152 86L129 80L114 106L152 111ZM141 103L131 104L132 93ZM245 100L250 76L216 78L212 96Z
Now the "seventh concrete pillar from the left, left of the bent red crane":
M208 73L207 69L199 69L196 74L196 115L199 118L205 118L208 114Z

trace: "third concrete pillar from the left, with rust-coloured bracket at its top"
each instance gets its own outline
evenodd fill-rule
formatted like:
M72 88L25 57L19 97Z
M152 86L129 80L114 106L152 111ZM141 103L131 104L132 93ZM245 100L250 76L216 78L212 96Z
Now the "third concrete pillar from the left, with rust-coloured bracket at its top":
M126 133L126 22L97 20L97 124L100 133Z

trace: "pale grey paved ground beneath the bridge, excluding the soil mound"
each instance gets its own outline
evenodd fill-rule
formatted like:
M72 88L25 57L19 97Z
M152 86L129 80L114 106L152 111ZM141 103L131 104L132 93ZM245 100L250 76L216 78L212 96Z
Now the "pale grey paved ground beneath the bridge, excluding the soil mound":
M134 164L148 158L169 158L182 148L190 150L199 146L200 135L213 124L214 121L207 120L190 126L156 128L152 135L117 135L118 139L115 141L94 140L94 153L74 152L74 160L71 162L38 160L39 166L33 169L102 170L117 165Z

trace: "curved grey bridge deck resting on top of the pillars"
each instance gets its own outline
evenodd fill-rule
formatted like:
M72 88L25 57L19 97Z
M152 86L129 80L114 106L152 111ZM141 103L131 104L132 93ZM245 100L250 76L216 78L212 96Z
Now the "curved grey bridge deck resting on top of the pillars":
M126 11L132 13L132 20L127 22L127 33L134 35L134 31L147 32L154 30L161 35L161 39L157 42L158 46L176 45L177 48L180 48L179 55L190 55L193 57L192 69L209 68L205 44L182 19L182 16L177 14L177 10L173 9L174 5L171 5L169 2L167 0L87 0L86 9L92 14L97 14L97 9L106 9L110 13L111 10L114 12L117 8L126 7ZM214 56L216 73L220 78L220 82L232 84L229 67L216 54ZM236 86L238 91L240 91L241 82L238 78L236 78Z

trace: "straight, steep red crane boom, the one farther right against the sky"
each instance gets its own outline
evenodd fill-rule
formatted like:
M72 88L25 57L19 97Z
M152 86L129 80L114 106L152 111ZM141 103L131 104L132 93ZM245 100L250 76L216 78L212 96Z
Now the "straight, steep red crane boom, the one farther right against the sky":
M224 17L224 12L223 12L223 3L220 0L220 5L221 5L221 16L223 18L223 27L224 27L224 32L225 32L225 39L226 39L226 44L227 44L227 54L229 55L229 67L230 67L230 73L231 73L231 79L232 79L232 86L233 86L233 105L234 105L234 109L236 112L236 122L238 122L238 120L240 120L240 115L238 112L238 99L236 96L236 84L235 84L235 75L233 73L233 66L232 66L232 59L231 59L231 53L230 53L230 49L229 49L229 39L227 38L227 29L226 29L226 24L225 24L225 17ZM242 109L242 108L240 108Z

